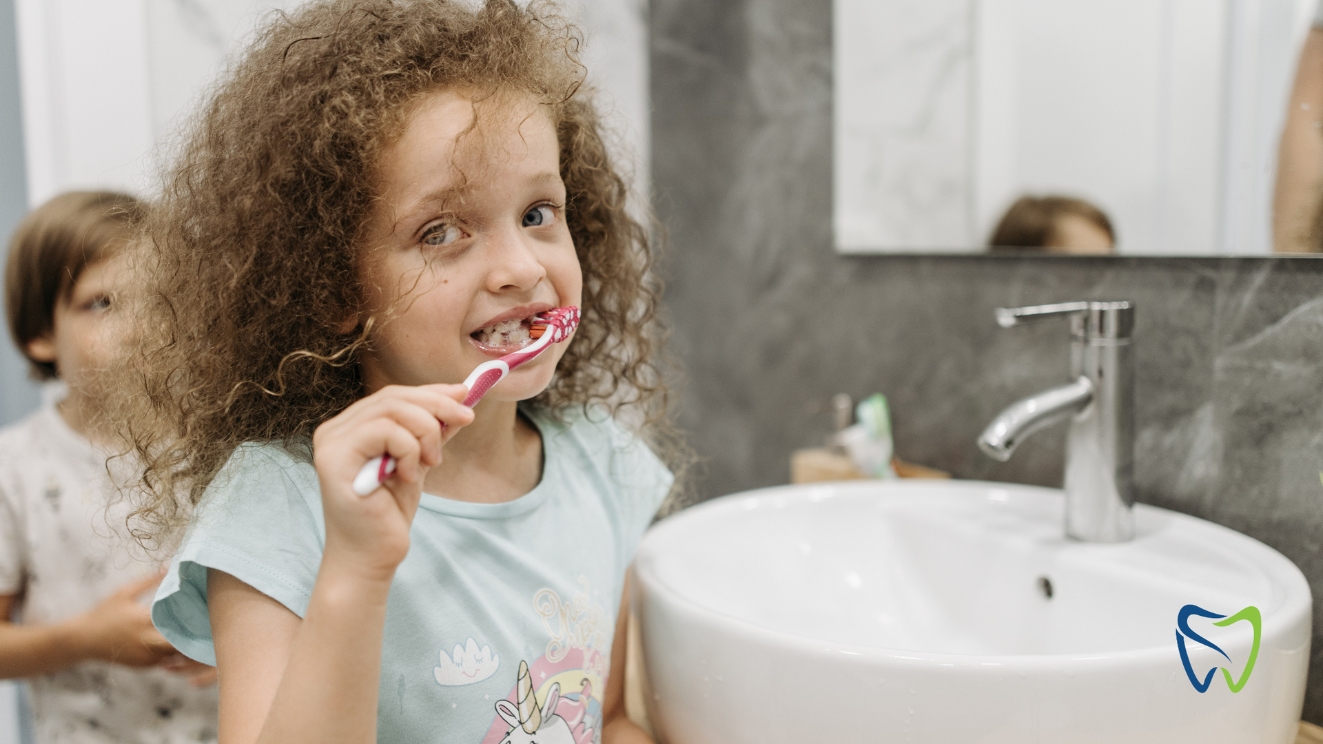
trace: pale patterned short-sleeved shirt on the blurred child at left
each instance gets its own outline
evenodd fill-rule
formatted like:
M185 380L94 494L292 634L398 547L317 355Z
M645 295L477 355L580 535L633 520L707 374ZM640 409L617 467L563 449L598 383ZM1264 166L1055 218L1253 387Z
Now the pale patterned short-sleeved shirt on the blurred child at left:
M124 508L107 508L107 481L49 400L0 429L0 594L21 596L19 622L67 620L160 571L124 536ZM37 744L216 741L214 684L98 661L28 683Z

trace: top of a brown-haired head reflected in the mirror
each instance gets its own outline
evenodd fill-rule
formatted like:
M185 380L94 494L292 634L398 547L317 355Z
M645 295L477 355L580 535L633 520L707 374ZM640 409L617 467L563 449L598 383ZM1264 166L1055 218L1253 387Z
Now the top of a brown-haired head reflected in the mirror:
M1021 196L988 238L988 249L994 253L1039 250L1109 256L1115 245L1111 220L1102 209L1069 196Z

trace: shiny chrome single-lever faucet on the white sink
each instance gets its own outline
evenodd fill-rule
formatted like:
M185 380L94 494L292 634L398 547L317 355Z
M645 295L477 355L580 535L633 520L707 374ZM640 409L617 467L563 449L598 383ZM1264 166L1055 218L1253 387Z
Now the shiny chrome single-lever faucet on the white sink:
M1122 543L1135 535L1135 393L1130 302L1064 302L1000 307L1003 328L1025 320L1070 318L1068 383L1012 404L988 424L979 449L1005 462L1024 437L1070 417L1066 434L1066 536Z

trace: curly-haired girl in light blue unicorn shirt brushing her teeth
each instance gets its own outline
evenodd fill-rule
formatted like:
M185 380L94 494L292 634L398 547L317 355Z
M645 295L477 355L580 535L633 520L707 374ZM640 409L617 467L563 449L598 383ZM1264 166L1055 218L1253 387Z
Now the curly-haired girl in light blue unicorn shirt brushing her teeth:
M140 534L192 512L152 612L217 663L225 744L648 741L624 576L672 477L606 404L662 392L656 295L578 44L542 5L318 3L187 140L116 418ZM570 342L460 405L568 304Z

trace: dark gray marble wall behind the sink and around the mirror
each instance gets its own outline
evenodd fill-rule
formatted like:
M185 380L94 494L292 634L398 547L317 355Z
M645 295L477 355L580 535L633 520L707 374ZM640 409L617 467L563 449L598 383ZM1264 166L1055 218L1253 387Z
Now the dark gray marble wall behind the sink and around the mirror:
M1323 259L837 256L830 40L830 0L652 0L654 179L697 491L786 482L791 450L828 430L812 404L875 391L901 457L1060 485L1062 430L1008 463L974 446L1002 406L1066 379L1062 324L1000 330L992 308L1131 299L1142 500L1275 547L1323 600Z

